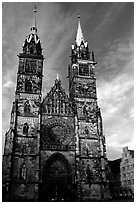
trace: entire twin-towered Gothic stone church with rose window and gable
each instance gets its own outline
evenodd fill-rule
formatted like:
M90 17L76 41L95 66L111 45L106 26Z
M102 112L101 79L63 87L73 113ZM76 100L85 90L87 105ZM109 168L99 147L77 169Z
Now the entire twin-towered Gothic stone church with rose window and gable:
M80 16L71 46L68 95L57 78L42 100L44 56L36 15L18 58L15 100L5 135L3 201L106 199L109 188L96 93L97 63L84 40Z

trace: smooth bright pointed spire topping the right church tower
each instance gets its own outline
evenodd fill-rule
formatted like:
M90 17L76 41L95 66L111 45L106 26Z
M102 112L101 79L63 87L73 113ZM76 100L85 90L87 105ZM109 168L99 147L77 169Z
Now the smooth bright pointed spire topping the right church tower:
M80 46L82 41L85 43L83 32L81 29L81 24L80 24L80 15L78 15L78 28L77 28L77 35L76 35L77 46Z

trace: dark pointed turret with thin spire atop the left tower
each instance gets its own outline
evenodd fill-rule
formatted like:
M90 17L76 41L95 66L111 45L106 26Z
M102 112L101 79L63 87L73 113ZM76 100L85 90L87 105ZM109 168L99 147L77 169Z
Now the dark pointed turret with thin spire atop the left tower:
M23 44L23 54L31 55L42 55L41 42L37 35L37 25L36 25L36 13L37 8L34 8L34 23L31 27L31 33L27 36Z

